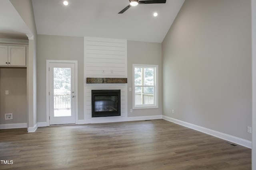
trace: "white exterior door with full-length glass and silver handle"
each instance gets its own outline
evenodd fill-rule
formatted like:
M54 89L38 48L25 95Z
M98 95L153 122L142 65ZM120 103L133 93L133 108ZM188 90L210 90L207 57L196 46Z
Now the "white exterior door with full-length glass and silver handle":
M75 123L74 63L49 64L50 125Z

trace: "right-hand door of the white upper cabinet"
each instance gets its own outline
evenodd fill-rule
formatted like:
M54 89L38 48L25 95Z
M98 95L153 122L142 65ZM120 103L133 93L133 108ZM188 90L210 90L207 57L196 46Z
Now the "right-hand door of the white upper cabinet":
M8 65L26 66L26 47L8 46Z

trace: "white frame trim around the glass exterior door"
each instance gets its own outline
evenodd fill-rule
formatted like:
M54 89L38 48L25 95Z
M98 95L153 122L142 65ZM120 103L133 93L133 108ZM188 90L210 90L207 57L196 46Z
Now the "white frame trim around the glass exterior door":
M46 60L46 123L50 126L50 107L49 107L49 64L50 63L74 63L75 64L75 116L78 123L78 62L74 60Z

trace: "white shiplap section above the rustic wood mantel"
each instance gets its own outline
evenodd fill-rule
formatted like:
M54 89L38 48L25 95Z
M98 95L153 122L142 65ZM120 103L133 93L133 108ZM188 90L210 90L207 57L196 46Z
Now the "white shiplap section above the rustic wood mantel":
M127 40L84 38L86 77L127 78Z

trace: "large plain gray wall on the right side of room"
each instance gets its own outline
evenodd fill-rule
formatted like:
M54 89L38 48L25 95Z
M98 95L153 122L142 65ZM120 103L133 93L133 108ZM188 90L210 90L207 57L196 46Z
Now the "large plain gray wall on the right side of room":
M163 115L252 140L250 7L184 2L162 43Z

